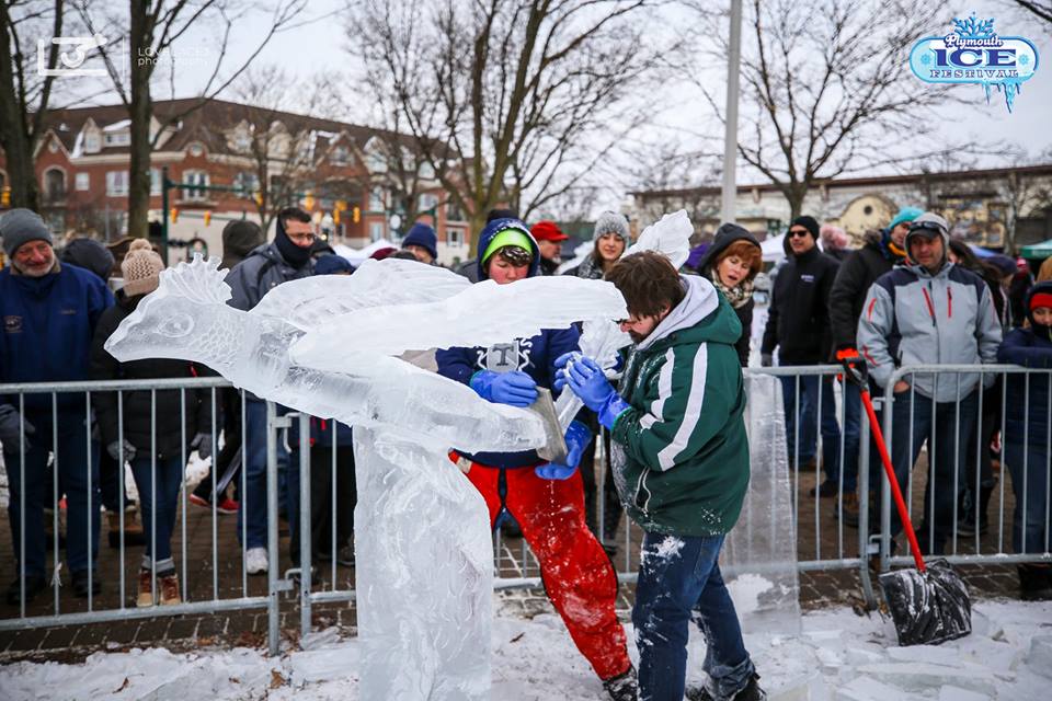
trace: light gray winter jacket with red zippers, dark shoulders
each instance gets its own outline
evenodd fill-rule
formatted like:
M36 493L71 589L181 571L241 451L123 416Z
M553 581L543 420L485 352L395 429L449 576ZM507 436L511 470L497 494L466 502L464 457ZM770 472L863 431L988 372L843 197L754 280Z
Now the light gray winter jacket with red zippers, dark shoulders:
M1000 321L981 277L944 264L931 275L921 265L899 265L869 288L858 320L858 349L869 374L887 387L897 367L911 365L977 365L997 361ZM918 393L937 402L967 397L979 374L917 374L910 380ZM987 375L987 387L994 381ZM960 389L958 389L960 388Z

